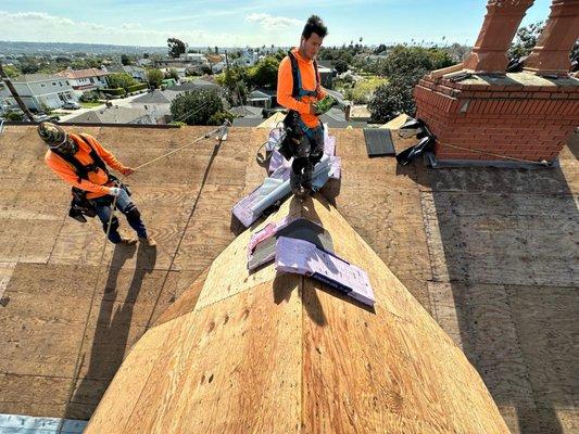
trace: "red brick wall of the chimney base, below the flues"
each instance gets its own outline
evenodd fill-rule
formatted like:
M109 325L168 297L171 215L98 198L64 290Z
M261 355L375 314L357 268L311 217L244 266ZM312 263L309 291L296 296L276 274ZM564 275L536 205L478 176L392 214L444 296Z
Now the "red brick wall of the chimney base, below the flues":
M558 155L579 126L579 80L575 85L565 79L565 86L505 81L419 81L414 89L416 116L437 136L437 158L540 162Z

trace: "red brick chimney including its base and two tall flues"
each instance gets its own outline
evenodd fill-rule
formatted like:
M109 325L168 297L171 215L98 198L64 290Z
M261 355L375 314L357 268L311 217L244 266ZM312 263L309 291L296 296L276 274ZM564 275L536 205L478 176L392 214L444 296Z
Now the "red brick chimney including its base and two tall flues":
M561 36L553 41L549 35L579 29L579 26L572 30L562 28L576 23L578 2L554 1L553 10L558 15L552 12L549 31L541 36L541 40L545 41L541 47L547 49L536 49L533 52L538 53L536 59L558 61L541 61L539 71L564 71L558 54L563 50L561 40L570 37ZM554 79L537 75L534 71L505 73L509 38L531 3L489 1L477 43L463 69L435 72L415 87L416 116L425 120L437 136L435 155L438 162L552 162L565 146L574 128L579 126L578 78L567 74ZM568 47L568 59L570 46L567 39L565 47ZM551 56L549 53L554 54Z

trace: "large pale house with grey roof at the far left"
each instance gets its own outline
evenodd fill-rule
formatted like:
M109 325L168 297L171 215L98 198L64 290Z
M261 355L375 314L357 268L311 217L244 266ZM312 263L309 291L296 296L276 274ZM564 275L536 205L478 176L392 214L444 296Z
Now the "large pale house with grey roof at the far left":
M70 79L58 75L26 74L13 78L12 84L26 106L33 111L42 111L43 106L59 108L66 101L78 101ZM5 103L16 105L12 95L7 98Z

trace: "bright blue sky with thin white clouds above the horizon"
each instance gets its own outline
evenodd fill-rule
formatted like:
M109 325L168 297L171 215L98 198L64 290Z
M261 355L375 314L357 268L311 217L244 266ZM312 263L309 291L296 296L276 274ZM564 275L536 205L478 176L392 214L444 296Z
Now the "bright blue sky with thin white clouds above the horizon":
M315 7L313 7L315 4ZM473 44L487 0L2 0L0 40L192 47L292 46L305 20L318 14L326 46L423 40ZM537 0L523 24L545 20L551 1Z

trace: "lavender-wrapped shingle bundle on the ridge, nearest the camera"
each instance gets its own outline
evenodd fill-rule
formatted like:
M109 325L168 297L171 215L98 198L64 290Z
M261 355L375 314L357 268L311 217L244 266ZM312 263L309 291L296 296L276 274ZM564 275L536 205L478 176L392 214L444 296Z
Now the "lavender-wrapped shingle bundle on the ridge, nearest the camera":
M310 276L365 305L374 306L368 275L309 241L280 237L276 243L276 269Z

